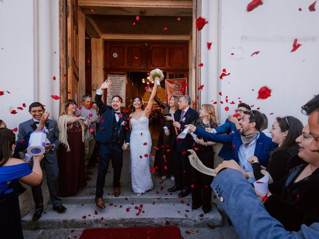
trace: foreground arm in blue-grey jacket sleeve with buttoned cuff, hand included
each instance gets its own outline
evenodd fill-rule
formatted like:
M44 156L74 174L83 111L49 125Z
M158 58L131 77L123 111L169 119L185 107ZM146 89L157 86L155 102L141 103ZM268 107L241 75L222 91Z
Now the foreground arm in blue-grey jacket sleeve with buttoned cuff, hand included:
M239 238L319 238L318 222L309 227L303 224L299 232L286 231L284 226L266 211L253 187L243 176L244 174L247 178L248 175L234 160L223 161L215 172L217 176L211 188L230 218Z

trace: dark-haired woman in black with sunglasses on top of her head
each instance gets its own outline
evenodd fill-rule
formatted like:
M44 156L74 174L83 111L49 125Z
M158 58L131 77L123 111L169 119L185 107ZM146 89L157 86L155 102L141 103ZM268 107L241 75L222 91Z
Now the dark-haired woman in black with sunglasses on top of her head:
M287 166L290 164L290 158L298 154L299 147L296 138L302 134L302 129L303 123L299 119L286 116L277 117L269 130L272 141L278 144L278 147L271 153L266 167L266 171L269 172L274 182L284 176ZM252 164L255 179L262 178L264 174L261 173L258 158L251 156L248 161Z

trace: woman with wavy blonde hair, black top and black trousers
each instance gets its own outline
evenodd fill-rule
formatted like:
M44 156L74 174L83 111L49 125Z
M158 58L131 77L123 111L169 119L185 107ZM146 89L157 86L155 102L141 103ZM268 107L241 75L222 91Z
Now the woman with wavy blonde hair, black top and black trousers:
M199 119L195 124L196 127L216 128L217 116L215 108L210 104L203 104L199 111ZM199 160L208 168L214 168L214 150L212 145L215 142L203 140L202 138L195 139L193 150L195 150ZM199 172L194 167L191 167L191 208L193 210L202 207L204 213L211 210L211 192L210 187L213 181L212 176L208 176Z

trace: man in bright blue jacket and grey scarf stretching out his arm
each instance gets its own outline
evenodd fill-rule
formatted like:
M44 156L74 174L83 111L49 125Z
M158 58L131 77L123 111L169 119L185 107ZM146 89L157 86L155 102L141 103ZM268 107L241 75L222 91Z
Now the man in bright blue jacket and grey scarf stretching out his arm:
M260 112L253 110L244 112L243 118L239 121L240 130L236 130L235 133L216 135L196 128L194 125L191 125L190 131L209 141L230 144L235 155L233 159L245 172L252 172L252 166L247 159L254 155L258 157L261 165L267 166L270 152L276 146L270 137L259 131L262 122L263 118ZM254 182L254 179L249 181Z

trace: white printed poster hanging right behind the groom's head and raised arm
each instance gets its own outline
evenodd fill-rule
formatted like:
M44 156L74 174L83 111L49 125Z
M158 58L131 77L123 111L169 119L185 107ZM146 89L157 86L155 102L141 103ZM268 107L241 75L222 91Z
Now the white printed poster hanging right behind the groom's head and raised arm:
M112 97L118 95L123 99L123 107L125 107L126 76L108 75L108 79L112 81L112 85L108 89L107 105L111 106Z

